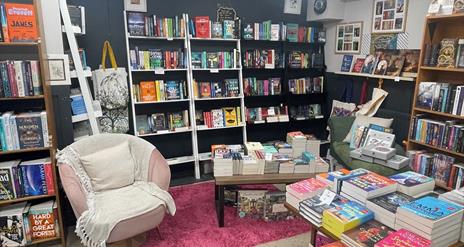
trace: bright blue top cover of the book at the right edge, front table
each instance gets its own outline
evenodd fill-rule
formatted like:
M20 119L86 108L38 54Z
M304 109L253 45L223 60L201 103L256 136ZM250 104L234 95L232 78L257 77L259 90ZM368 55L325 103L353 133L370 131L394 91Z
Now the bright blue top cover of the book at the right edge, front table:
M399 208L432 221L443 219L464 209L454 203L430 196L412 201Z

